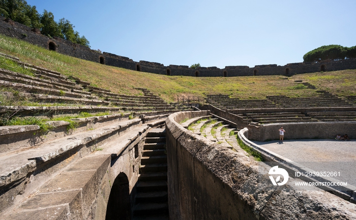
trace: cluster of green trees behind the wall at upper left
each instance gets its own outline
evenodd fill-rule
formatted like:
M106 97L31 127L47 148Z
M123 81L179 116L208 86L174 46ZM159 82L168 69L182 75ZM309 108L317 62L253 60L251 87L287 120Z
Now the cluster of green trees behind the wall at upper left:
M80 37L69 20L62 18L55 22L52 12L44 10L40 15L36 6L30 6L24 0L0 0L0 15L29 27L40 28L43 35L90 47L89 41L84 36Z

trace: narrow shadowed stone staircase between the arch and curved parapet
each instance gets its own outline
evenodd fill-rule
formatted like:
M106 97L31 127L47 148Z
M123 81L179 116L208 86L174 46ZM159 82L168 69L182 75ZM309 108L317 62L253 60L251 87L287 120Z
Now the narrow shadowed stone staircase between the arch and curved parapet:
M169 219L166 152L165 130L153 129L147 133L136 184L135 220Z

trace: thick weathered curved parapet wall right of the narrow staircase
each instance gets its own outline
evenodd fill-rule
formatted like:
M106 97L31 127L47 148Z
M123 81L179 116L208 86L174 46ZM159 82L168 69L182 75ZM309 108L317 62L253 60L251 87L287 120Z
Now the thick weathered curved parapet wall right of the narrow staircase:
M256 161L177 123L208 113L177 112L166 120L169 219L356 217L354 204L328 192L299 191L292 185L259 191Z

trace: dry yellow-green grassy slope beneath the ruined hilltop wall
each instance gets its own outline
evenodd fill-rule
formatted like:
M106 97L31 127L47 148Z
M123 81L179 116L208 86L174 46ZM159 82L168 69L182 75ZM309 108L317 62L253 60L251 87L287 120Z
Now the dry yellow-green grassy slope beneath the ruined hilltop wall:
M199 97L221 93L241 99L265 99L269 95L313 97L312 89L298 89L294 80L302 79L318 89L339 96L356 95L356 70L252 77L182 77L136 72L101 65L95 62L62 55L26 42L0 35L0 52L19 57L22 61L75 76L92 84L127 95L139 95L134 87L148 88L166 101L176 101L177 96Z

